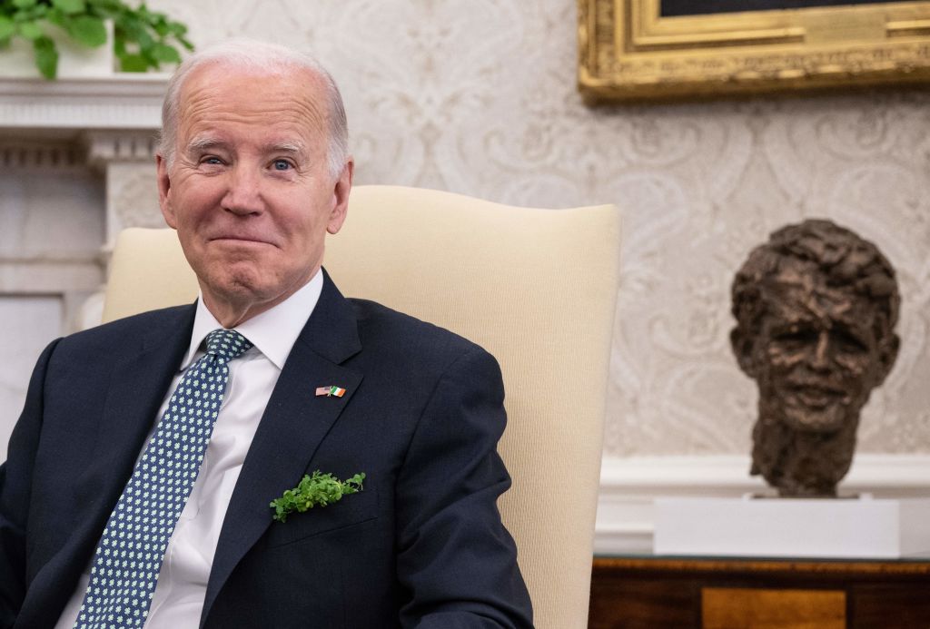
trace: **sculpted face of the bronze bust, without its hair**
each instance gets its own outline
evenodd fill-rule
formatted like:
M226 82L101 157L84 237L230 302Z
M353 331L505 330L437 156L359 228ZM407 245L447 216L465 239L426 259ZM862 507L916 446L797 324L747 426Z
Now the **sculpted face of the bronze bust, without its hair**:
M768 308L751 359L763 404L795 430L857 424L894 361L876 338L875 304L818 273L783 273L766 282L763 298Z

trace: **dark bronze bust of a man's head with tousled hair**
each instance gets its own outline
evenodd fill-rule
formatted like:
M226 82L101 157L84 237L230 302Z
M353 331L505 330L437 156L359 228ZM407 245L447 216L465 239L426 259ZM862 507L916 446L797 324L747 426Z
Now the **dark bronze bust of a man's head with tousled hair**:
M781 496L836 496L859 413L897 358L895 270L829 220L772 233L733 282L730 333L759 386L751 474Z

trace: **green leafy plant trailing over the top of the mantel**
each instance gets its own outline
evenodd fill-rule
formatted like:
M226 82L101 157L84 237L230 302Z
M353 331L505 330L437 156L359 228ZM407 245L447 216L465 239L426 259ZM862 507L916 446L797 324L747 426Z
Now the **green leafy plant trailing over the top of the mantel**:
M123 0L0 0L0 56L13 37L31 41L39 72L54 79L59 52L49 26L81 46L96 47L107 41L106 20L113 20L113 53L123 72L179 62L176 45L193 50L184 24L150 11L144 3L133 8Z

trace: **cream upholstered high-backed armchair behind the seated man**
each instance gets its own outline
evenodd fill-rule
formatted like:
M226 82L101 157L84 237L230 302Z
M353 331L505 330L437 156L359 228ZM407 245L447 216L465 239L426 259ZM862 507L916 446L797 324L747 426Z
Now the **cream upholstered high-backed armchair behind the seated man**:
M539 629L587 626L604 398L618 289L615 207L539 210L393 186L352 190L325 266L362 296L471 338L503 371L500 500ZM170 229L127 229L104 321L189 303Z

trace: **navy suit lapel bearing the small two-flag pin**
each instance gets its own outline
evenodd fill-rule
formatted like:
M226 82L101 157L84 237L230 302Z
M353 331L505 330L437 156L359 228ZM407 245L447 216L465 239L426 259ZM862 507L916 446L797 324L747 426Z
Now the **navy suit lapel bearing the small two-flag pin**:
M269 504L298 484L314 452L362 381L340 363L361 349L349 302L324 271L320 299L287 357L226 510L206 586L201 626L223 583L272 523ZM316 387L346 389L317 397Z

